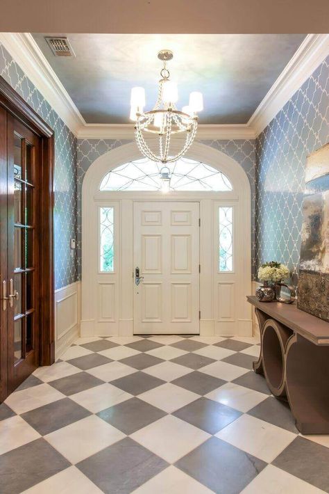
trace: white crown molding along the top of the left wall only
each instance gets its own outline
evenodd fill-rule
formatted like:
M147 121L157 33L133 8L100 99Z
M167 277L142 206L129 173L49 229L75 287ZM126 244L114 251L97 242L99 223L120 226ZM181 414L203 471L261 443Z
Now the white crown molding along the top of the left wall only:
M0 42L75 135L85 125L69 93L30 33L0 33Z

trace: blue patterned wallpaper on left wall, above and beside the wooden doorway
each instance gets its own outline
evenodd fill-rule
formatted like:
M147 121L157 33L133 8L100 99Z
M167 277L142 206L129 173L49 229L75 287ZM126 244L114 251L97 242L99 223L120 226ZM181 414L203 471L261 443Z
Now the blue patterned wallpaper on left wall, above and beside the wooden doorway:
M65 287L78 272L69 248L69 239L76 238L76 138L1 44L0 75L55 132L55 287Z

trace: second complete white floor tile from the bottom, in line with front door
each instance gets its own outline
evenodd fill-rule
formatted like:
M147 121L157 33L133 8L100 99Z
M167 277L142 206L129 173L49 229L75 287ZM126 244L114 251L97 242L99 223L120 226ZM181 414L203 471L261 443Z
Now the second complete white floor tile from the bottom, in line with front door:
M143 399L150 405L161 408L167 413L171 413L200 398L200 396L192 391L180 388L180 386L166 383L153 388L153 390L146 391L142 395L138 395L138 398Z

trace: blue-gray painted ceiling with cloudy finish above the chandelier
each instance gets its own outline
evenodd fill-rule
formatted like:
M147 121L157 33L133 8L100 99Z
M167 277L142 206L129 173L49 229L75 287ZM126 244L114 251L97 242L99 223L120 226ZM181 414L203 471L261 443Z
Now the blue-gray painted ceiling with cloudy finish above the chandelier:
M74 57L56 57L45 36L65 35ZM33 38L87 123L129 123L130 90L143 86L155 103L160 49L178 83L178 108L203 93L201 124L244 124L292 58L304 34L70 34Z

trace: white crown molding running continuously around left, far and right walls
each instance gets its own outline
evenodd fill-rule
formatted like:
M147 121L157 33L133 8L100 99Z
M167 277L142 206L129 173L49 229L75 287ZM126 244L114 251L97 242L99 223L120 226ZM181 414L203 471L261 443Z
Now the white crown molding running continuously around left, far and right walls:
M0 43L77 138L133 138L132 124L103 125L85 122L31 33L0 33ZM257 137L328 54L329 34L307 34L248 122L237 125L199 125L197 137L203 139Z

